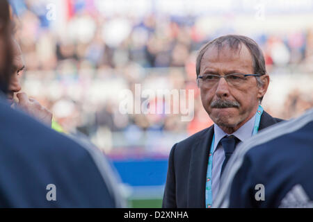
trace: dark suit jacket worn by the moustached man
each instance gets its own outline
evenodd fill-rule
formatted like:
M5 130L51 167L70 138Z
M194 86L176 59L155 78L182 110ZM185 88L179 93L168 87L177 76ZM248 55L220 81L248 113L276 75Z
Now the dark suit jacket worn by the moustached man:
M279 121L282 119L263 112L259 130ZM205 178L213 135L214 126L211 126L172 147L162 207L205 207Z

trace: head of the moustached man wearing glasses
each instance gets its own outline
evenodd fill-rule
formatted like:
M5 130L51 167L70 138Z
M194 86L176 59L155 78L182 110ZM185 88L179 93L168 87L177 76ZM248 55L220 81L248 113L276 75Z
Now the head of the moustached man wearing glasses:
M257 111L268 88L264 56L257 43L241 35L225 35L205 44L198 54L197 76L214 74L260 74L246 76L240 85L220 78L215 85L198 78L202 105L220 127L240 128Z

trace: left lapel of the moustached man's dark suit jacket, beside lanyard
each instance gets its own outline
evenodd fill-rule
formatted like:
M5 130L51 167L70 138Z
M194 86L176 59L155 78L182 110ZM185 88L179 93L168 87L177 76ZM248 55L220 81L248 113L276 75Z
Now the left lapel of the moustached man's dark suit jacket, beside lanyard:
M205 181L209 161L209 147L214 134L211 126L195 143L191 151L191 163L188 179L187 207L205 207Z

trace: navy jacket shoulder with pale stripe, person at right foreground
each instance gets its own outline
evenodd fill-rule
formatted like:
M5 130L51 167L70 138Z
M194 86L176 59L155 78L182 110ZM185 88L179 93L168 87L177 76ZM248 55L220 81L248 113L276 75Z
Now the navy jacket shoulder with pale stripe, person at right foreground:
M214 207L313 208L313 109L239 146Z

